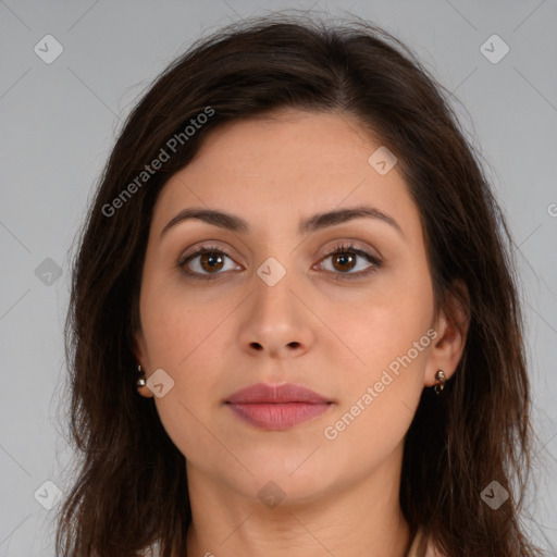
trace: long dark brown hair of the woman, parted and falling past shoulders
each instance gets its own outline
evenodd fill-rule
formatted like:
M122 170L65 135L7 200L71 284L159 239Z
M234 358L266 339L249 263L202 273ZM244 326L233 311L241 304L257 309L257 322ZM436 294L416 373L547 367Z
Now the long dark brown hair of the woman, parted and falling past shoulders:
M451 297L466 308L457 370L441 397L424 388L405 438L399 497L410 528L448 557L539 555L521 525L532 431L511 236L446 92L370 23L284 14L197 40L150 84L99 178L73 261L64 339L82 459L59 511L60 555L127 557L153 543L163 557L186 555L185 457L135 386L152 209L212 129L282 109L346 116L396 154L419 210L435 310L453 319ZM185 133L193 120L205 123ZM170 159L141 175L169 145ZM497 510L480 496L492 481L510 494Z

